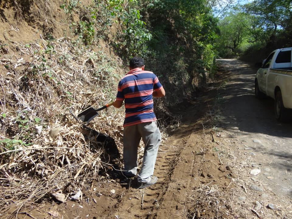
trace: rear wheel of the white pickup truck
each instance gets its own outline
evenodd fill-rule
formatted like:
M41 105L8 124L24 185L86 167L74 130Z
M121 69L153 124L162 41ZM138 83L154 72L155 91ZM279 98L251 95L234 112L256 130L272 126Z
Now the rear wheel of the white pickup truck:
M276 93L274 109L276 120L279 122L288 122L291 120L291 110L284 107L281 91Z

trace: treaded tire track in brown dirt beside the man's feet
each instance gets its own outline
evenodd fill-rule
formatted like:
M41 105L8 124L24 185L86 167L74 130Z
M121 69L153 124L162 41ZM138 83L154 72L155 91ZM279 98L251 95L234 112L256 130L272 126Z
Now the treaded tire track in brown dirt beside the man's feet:
M119 218L151 218L152 212L159 209L161 199L168 189L184 141L184 138L180 139L179 136L169 137L169 140L160 146L157 155L155 176L157 176L158 182L145 189L129 188L115 206L116 210L109 212L107 218L116 218L116 216ZM143 206L141 205L142 197Z

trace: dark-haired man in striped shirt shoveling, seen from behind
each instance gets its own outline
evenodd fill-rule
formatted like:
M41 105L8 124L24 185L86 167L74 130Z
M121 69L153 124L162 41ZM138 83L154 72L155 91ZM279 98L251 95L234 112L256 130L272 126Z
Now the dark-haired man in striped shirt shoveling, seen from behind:
M153 112L152 97L164 97L165 91L156 75L144 71L144 60L130 60L130 71L120 80L113 106L120 108L125 100L123 157L127 177L137 175L137 151L142 138L145 144L143 164L137 176L138 187L145 188L157 182L153 176L161 134Z

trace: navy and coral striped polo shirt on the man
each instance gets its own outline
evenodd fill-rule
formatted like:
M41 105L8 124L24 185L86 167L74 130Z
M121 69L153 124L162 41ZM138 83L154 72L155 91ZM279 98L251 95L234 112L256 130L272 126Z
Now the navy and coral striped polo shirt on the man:
M126 115L123 127L156 121L153 112L153 90L162 89L158 78L151 71L135 68L119 82L116 99L125 100Z

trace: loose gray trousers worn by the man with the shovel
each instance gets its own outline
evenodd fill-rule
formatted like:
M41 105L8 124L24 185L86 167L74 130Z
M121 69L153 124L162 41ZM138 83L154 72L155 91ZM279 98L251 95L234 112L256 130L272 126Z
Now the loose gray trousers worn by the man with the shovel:
M137 180L148 183L153 176L161 134L157 122L146 122L124 127L123 156L126 175L137 175L137 152L140 140L145 144L143 164Z

